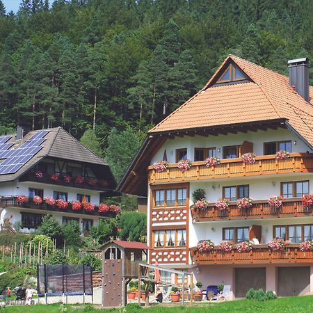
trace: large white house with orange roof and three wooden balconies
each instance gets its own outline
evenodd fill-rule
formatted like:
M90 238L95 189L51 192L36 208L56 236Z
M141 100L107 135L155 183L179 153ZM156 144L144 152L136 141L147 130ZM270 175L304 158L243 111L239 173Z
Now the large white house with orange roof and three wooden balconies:
M230 55L199 93L149 131L117 189L147 196L150 263L192 271L204 289L230 284L237 298L250 287L279 296L313 293L313 252L300 250L313 240L312 206L301 201L313 193L307 63L289 61L288 78ZM277 159L280 150L289 158ZM248 152L257 155L255 164L242 161ZM220 164L210 167L209 157ZM190 170L179 170L181 159L191 161ZM168 168L158 172L153 164L162 160ZM199 188L209 204L193 209ZM268 204L271 195L282 195L282 207ZM216 207L220 198L230 201L228 209ZM252 198L252 207L239 209L241 198ZM275 237L288 242L282 251L268 248ZM250 252L200 252L198 241L208 239L254 245Z

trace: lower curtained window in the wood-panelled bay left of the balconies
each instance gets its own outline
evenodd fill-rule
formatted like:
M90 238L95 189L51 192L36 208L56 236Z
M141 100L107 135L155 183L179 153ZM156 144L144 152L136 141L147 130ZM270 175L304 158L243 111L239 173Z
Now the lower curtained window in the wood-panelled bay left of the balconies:
M155 230L153 243L154 248L186 246L186 230Z

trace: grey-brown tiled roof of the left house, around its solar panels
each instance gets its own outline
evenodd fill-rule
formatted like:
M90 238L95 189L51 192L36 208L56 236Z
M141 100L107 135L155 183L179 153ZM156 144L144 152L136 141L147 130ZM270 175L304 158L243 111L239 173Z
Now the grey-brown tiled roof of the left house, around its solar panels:
M49 132L44 137L45 141L41 144L42 149L14 174L0 175L0 182L10 182L14 179L17 179L25 172L33 168L35 164L37 164L39 161L42 161L42 159L45 159L46 157L54 157L65 160L67 159L70 161L79 161L109 168L108 164L105 161L97 157L96 154L91 152L82 143L77 141L77 139L67 133L67 131L65 131L63 128L56 127L51 129L41 129L40 131L45 130ZM13 134L12 138L8 141L8 143L14 143L13 147L11 147L10 150L17 149L37 132L38 131L30 131L20 141L17 141L15 139L15 134ZM109 172L111 176L110 180L114 182L111 171Z

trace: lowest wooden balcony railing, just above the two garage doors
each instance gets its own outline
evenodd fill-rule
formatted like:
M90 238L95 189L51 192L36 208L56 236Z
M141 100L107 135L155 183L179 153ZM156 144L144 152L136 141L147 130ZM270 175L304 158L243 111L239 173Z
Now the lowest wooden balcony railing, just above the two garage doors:
M267 245L253 246L250 252L224 252L218 248L199 252L191 248L193 264L268 264L313 263L313 251L301 251L300 244L287 244L283 251L272 251Z

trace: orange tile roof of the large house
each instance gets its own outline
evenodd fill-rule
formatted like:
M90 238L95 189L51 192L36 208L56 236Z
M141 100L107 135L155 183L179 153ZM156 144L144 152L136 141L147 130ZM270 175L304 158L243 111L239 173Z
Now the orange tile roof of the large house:
M252 80L211 86L223 65L232 60ZM313 88L310 87L313 97ZM150 130L150 134L286 118L313 145L313 106L291 90L289 78L236 56L227 56L199 93Z

